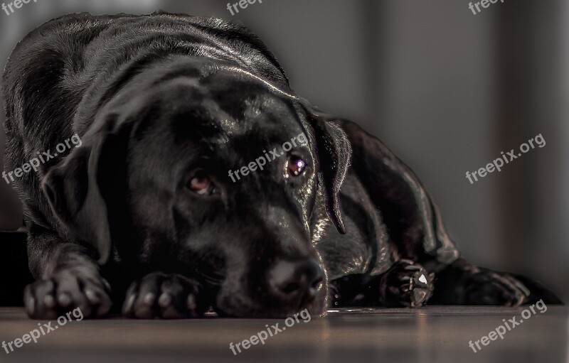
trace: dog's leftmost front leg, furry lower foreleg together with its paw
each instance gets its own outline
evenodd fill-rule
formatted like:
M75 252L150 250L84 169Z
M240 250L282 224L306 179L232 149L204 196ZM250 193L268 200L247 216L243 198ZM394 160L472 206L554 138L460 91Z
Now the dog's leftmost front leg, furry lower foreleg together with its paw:
M87 249L65 243L55 232L32 224L28 234L31 273L24 304L30 318L55 319L75 308L85 317L99 317L111 308L110 286Z

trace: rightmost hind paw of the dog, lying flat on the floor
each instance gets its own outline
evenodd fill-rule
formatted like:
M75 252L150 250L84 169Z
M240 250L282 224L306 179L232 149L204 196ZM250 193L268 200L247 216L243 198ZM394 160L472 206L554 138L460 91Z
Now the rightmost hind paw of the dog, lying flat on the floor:
M508 273L482 271L467 278L462 296L463 305L519 306L526 302L530 291Z

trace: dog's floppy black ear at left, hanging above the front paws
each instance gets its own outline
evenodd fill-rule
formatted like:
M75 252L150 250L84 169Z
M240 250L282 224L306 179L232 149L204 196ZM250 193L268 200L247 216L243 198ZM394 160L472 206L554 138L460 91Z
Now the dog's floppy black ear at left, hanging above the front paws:
M117 181L115 166L126 158L127 142L121 141L125 134L124 128L115 126L114 119L105 121L98 131L85 134L81 146L43 179L43 192L68 237L93 246L101 265L111 251L104 194L107 185Z

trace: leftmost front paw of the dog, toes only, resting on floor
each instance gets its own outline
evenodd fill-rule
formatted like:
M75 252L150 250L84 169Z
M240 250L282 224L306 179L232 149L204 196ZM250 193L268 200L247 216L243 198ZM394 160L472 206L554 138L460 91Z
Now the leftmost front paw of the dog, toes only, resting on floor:
M32 319L52 320L80 308L85 317L106 315L112 305L110 285L98 273L65 269L26 286L24 305Z

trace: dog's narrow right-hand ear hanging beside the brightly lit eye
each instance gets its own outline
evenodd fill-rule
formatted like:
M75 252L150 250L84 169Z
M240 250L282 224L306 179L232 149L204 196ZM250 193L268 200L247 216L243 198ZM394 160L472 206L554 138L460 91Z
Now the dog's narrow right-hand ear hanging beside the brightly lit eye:
M335 123L336 117L304 105L307 119L304 129L312 141L313 152L319 161L318 180L324 186L326 211L339 233L345 234L339 193L351 161L351 146L344 130ZM312 131L312 132L311 132Z

